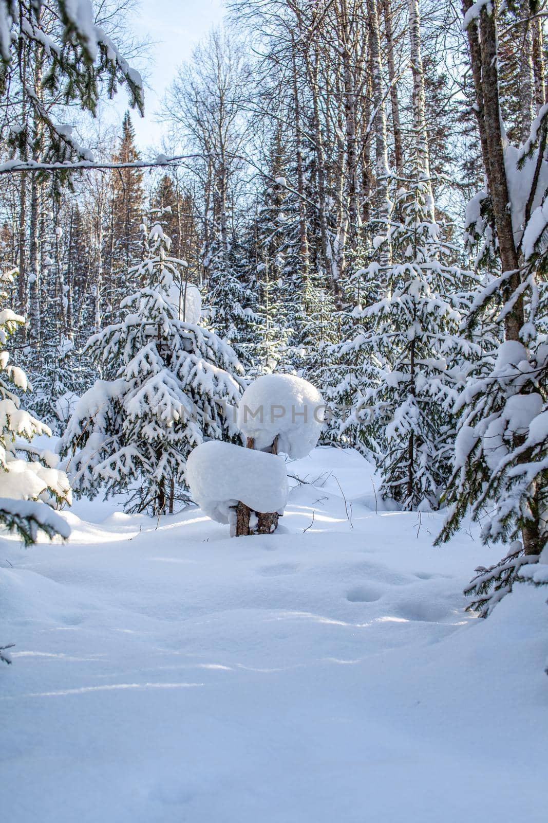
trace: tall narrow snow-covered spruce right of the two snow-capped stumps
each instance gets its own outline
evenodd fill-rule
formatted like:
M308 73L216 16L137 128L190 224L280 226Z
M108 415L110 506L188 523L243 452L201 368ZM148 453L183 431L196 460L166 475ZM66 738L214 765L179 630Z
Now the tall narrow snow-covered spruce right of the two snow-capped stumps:
M338 402L353 406L342 431L354 430L356 445L376 459L381 495L403 509L435 509L450 471L463 360L479 349L458 335L466 274L457 250L440 238L430 181L400 190L398 211L394 258L377 269L385 296L361 310L357 336L338 347L339 359L357 365Z

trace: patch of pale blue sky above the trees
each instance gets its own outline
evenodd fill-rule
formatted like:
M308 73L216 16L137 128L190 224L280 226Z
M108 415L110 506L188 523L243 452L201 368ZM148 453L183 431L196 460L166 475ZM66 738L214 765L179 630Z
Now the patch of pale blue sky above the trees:
M136 68L146 66L145 118L133 114L137 144L145 151L147 146L159 146L162 125L154 122L163 93L170 85L177 66L191 57L193 47L211 26L223 18L223 0L141 0L140 17L132 23L138 37L148 35L154 44L150 47L150 61L132 61ZM122 53L123 53L123 44ZM109 116L120 123L127 109L127 96L121 90L109 107Z

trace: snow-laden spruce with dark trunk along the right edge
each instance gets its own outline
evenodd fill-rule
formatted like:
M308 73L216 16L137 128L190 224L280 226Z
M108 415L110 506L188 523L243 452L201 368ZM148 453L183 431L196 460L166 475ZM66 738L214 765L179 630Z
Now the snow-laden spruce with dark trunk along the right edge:
M529 140L519 149L509 144L500 116L497 12L468 0L464 10L487 182L472 203L468 231L500 261L499 277L487 277L467 327L492 323L504 342L459 398L445 495L451 508L436 542L448 540L470 512L484 542L511 544L467 588L468 608L487 616L548 542L548 119L541 107Z

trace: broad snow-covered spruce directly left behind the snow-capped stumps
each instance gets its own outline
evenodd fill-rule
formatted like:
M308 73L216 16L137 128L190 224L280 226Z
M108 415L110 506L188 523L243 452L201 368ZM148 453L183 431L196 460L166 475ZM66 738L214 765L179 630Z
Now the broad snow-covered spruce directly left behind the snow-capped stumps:
M149 243L131 272L140 291L122 301L119 322L87 344L106 379L81 398L61 449L78 494L137 486L129 509L162 514L173 510L191 449L235 434L229 408L242 393L242 366L213 332L179 319L169 290L182 261L168 256L158 223Z

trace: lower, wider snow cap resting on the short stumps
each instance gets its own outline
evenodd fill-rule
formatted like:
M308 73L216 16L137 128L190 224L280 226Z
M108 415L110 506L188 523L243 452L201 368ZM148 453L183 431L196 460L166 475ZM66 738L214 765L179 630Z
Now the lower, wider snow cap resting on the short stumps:
M233 525L238 500L256 512L279 512L288 502L288 477L275 454L210 440L187 459L192 499L217 523Z

